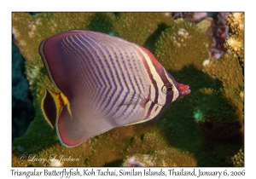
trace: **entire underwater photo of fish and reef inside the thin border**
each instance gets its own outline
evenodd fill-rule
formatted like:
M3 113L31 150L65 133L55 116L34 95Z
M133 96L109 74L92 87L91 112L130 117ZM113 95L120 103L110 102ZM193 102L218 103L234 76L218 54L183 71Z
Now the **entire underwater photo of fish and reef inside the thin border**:
M13 167L244 167L243 12L14 12L12 43Z

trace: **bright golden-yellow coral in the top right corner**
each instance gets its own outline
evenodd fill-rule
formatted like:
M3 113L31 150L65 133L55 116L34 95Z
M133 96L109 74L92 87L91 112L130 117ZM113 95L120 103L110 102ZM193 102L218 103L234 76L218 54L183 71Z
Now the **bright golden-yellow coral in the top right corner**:
M244 64L244 13L236 12L229 14L230 38L224 46L239 56L241 66Z

